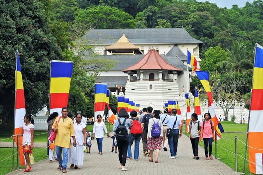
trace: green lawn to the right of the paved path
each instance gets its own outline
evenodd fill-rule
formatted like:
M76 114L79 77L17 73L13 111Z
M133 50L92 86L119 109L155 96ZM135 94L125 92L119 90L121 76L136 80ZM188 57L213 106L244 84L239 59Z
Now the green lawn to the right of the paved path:
M221 122L225 132L247 132L247 124L237 124L231 121ZM186 134L189 136L189 134ZM246 134L245 133L223 133L220 140L217 141L217 144L229 151L235 152L235 136L237 136L242 142L246 143ZM225 139L224 139L225 138ZM231 139L231 140L226 140ZM190 143L190 142L189 142ZM213 142L213 156L215 155L215 142ZM199 145L204 147L203 142L199 142ZM227 164L229 167L235 170L235 154L232 154L220 147L217 147L217 158L220 158L220 161ZM245 145L238 141L238 154L244 157L245 155ZM200 156L204 156L204 153L199 153ZM248 149L247 157L248 159ZM243 172L244 159L238 157L238 172ZM246 162L245 173L251 174L249 171L248 162Z

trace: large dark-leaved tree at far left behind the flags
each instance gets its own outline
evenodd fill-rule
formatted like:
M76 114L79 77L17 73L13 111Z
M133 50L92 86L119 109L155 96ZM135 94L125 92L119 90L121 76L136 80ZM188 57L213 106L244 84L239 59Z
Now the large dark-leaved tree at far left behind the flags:
M61 55L42 9L35 0L0 3L0 119L5 123L14 118L16 49L21 54L26 112L37 114L48 104L49 61Z

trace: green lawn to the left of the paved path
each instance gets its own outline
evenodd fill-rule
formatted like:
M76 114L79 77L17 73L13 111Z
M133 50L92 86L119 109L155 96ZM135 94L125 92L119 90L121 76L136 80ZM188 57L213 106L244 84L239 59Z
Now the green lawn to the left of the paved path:
M15 152L17 149L15 148ZM34 154L35 152L35 154ZM1 160L9 157L12 155L12 148L0 148L0 155L1 155ZM33 155L35 158L35 162L38 162L40 160L43 160L47 157L47 148L35 148L33 149ZM0 160L0 161L1 161ZM17 167L17 154L14 156L14 165L15 169ZM24 169L25 166L19 166L19 168ZM12 157L8 158L7 160L4 160L0 162L0 174L6 174L9 172L12 172Z

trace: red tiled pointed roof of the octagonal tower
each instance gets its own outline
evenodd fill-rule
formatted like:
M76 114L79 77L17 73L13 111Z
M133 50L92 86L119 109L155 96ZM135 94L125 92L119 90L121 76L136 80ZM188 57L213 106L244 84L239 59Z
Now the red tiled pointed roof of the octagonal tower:
M142 69L182 70L168 64L155 49L151 49L138 63L124 69L123 72Z

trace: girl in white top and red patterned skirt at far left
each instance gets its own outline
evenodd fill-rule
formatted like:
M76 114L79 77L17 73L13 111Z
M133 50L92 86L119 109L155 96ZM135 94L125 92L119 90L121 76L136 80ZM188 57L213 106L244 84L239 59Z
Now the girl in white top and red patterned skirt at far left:
M32 149L34 149L34 119L31 114L26 114L24 116L24 125L21 134L12 135L11 137L23 136L23 153L26 159L26 169L24 172L29 172L31 170L29 154L32 154Z

